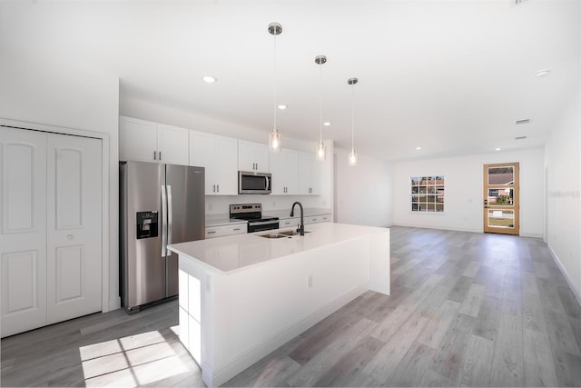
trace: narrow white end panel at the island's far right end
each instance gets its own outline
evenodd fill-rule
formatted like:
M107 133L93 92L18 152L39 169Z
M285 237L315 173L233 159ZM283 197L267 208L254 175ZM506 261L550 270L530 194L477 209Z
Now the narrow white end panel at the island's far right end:
M369 234L369 290L391 293L389 229Z

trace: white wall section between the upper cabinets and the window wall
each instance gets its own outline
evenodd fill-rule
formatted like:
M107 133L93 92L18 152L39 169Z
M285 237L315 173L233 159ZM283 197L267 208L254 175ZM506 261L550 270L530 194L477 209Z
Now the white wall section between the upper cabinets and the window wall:
M392 216L392 165L358 154L348 164L349 151L335 148L335 221L342 224L388 226Z

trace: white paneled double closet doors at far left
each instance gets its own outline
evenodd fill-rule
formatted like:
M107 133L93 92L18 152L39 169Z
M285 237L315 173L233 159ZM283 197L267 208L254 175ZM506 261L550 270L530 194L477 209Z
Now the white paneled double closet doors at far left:
M0 131L2 337L101 311L102 141Z

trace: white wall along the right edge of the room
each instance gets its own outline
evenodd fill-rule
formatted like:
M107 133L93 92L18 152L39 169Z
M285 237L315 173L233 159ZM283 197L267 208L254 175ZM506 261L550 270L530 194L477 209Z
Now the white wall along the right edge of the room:
M581 88L580 88L581 89ZM565 107L546 146L547 244L581 301L581 98Z

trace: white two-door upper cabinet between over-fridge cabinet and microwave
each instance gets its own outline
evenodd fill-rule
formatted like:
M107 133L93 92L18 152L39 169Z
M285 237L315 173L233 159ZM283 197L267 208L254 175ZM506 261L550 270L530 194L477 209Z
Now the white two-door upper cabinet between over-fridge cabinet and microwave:
M190 131L190 165L205 169L206 195L238 194L238 141Z

